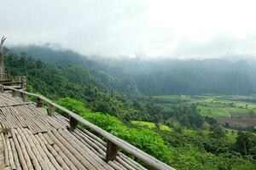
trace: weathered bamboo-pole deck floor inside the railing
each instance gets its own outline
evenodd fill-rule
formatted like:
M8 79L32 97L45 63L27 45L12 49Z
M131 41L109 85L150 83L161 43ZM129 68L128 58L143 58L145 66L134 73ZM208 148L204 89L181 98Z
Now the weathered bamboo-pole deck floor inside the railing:
M0 170L146 169L122 153L105 161L107 144L93 133L68 131L67 118L0 94Z

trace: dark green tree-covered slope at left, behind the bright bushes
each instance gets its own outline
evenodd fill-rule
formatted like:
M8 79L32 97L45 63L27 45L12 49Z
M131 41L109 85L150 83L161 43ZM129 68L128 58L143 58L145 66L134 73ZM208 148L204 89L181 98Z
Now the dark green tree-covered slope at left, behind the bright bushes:
M129 121L139 116L140 112L132 108L126 96L109 92L100 79L79 65L47 65L15 54L8 54L5 63L11 75L27 77L28 91L44 94L49 99L79 99L93 111L108 112L122 120Z

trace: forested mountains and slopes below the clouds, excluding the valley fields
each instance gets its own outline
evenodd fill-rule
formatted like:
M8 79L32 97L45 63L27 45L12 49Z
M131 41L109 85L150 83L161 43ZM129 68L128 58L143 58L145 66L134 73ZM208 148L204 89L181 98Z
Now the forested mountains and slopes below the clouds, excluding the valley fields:
M230 142L227 130L215 118L201 116L198 105L178 100L162 105L153 97L253 94L256 79L246 61L214 60L211 65L207 60L176 60L140 67L131 59L110 65L73 51L36 46L11 48L5 60L11 75L27 77L28 91L54 99L172 167L256 169L253 130L239 130ZM152 122L154 127L131 122Z

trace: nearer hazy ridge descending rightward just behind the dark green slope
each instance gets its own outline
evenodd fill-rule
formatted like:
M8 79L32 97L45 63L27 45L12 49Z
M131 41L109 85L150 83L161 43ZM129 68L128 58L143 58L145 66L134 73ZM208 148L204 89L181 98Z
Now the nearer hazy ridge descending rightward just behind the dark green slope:
M96 78L100 79L105 88L113 89L119 93L139 94L136 82L129 74L119 67L102 65L88 56L83 56L72 50L54 49L49 46L16 46L9 48L11 53L28 55L34 59L40 59L50 65L79 65ZM82 77L81 77L82 78Z

